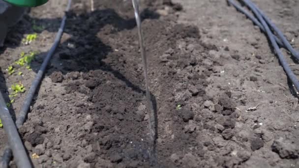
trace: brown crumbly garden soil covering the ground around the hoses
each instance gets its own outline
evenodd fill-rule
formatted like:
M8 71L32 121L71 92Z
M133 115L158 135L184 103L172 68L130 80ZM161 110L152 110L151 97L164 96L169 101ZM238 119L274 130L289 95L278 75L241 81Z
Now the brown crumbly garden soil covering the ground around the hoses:
M299 2L254 0L299 50ZM174 3L175 2L175 3ZM20 129L36 168L298 168L299 104L264 34L226 2L142 0L158 139L149 142L130 0L74 0L65 33ZM31 9L0 50L2 93L28 90L65 1ZM44 30L30 45L32 21ZM21 52L32 71L8 75ZM295 73L298 64L284 51ZM17 68L17 67L16 67ZM298 73L297 73L298 74ZM26 93L10 108L18 114ZM0 130L0 151L6 144ZM14 162L11 163L14 166Z

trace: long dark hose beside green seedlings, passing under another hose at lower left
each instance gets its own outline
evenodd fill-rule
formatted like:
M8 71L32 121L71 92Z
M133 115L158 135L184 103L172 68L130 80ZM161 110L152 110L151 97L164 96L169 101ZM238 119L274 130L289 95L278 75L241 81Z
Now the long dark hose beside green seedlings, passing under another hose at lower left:
M66 10L65 12L68 12L69 9L70 9L70 5L71 5L71 1L72 0L68 0L68 4L67 4L67 7L66 7ZM65 21L66 21L66 14L63 16L62 18L62 21L61 21L61 24L60 24L60 28L59 28L59 31L56 35L56 38L55 38L55 41L53 43L53 46L51 47L50 51L48 52L47 56L45 57L42 65L40 66L40 69L38 71L38 73L36 74L32 84L31 84L31 87L28 91L28 94L26 96L26 99L24 101L24 104L22 106L22 109L20 111L20 114L17 118L17 121L16 121L16 126L17 128L20 128L23 123L25 122L25 119L27 117L27 114L28 114L28 111L29 111L29 108L30 108L30 104L31 104L31 101L32 101L32 98L34 96L34 93L36 91L36 88L38 87L38 85L40 84L41 82L41 79L43 77L43 74L47 68L47 65L51 59L51 57L53 56L57 46L59 45L59 42L60 42L60 38L62 36L62 33L63 33L63 29L64 29L64 26L65 26ZM2 119L2 118L1 118ZM4 124L3 124L4 125ZM4 125L4 128L6 126ZM9 133L8 133L9 134ZM18 132L17 132L17 136L18 135ZM21 142L22 144L22 142ZM3 153L3 157L2 157L2 162L1 162L1 167L2 168L7 168L8 167L8 164L9 164L9 161L10 161L10 158L12 156L12 153L11 153L11 149L14 149L16 145L20 145L19 143L11 143L9 144L9 146L6 146L5 148L5 151ZM23 144L22 144L23 145ZM11 149L10 149L11 148ZM14 152L13 152L13 155L15 156L15 159L18 160L18 158L22 158L22 157L18 157ZM27 155L22 155L24 158L27 157ZM19 168L23 168L23 166L18 166ZM24 167L25 168L25 167ZM27 167L26 167L27 168Z

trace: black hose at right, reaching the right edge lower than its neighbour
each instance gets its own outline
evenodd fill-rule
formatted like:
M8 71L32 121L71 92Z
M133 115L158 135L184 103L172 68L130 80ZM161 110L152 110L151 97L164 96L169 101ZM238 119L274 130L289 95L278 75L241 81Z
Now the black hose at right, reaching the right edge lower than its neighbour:
M266 21L264 20L265 16L263 17L261 15L261 12L259 12L259 10L257 10L257 8L255 7L255 5L250 0L242 0L242 1L255 14L255 16L258 18L258 20L260 21L260 23L265 28L265 31L266 31L266 33L267 33L267 35L269 37L269 40L270 40L270 42L272 44L272 47L274 48L274 51L276 52L276 55L278 56L278 59L279 59L281 65L282 65L283 69L285 70L287 76L290 78L290 80L292 81L292 83L295 85L296 89L299 91L299 82L298 82L298 80L296 78L296 75L293 73L293 71L290 68L290 66L288 65L286 59L282 55L282 52L280 51L280 49L278 47L278 44L275 41L274 34L270 30L270 28L267 25Z

